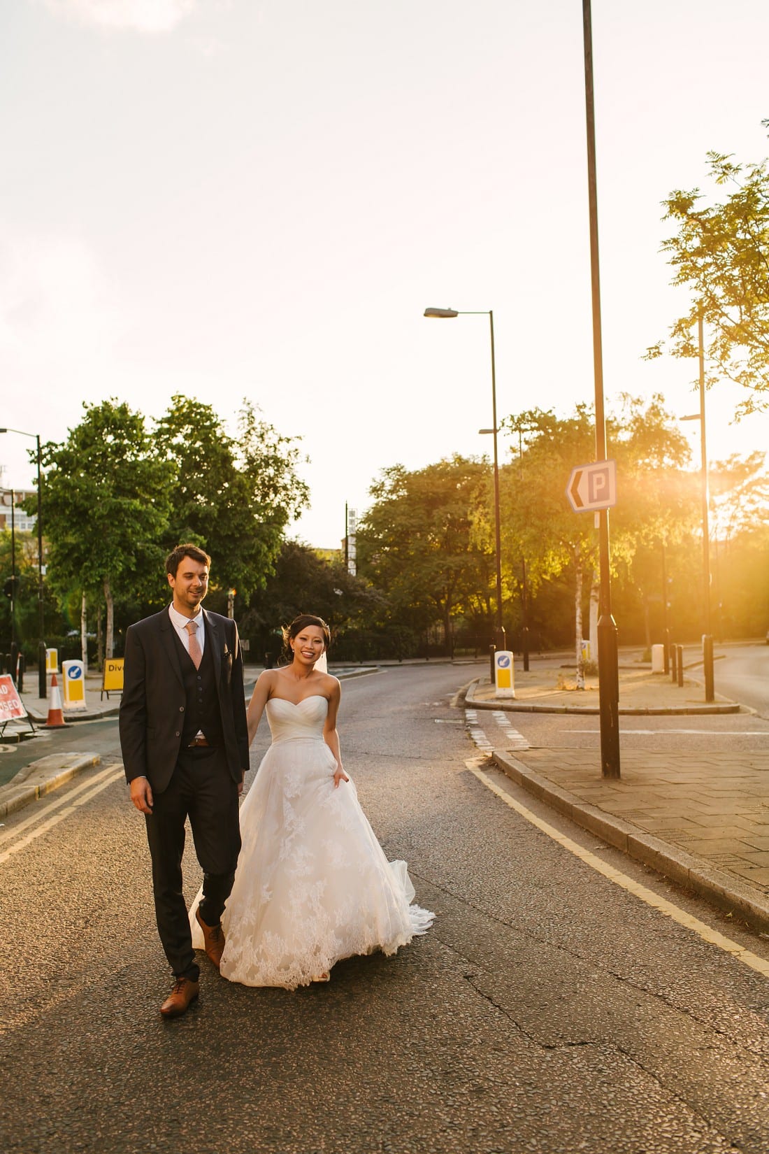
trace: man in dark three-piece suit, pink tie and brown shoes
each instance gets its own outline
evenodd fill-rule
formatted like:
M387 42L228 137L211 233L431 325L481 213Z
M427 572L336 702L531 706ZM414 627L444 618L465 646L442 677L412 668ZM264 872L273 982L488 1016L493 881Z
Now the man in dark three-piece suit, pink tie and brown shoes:
M203 869L196 917L217 968L240 852L238 799L248 767L243 660L235 622L201 606L210 563L197 546L178 545L166 559L171 605L126 634L120 744L131 801L146 819L158 931L175 976L160 1006L166 1018L184 1013L198 995L182 893L186 818Z

